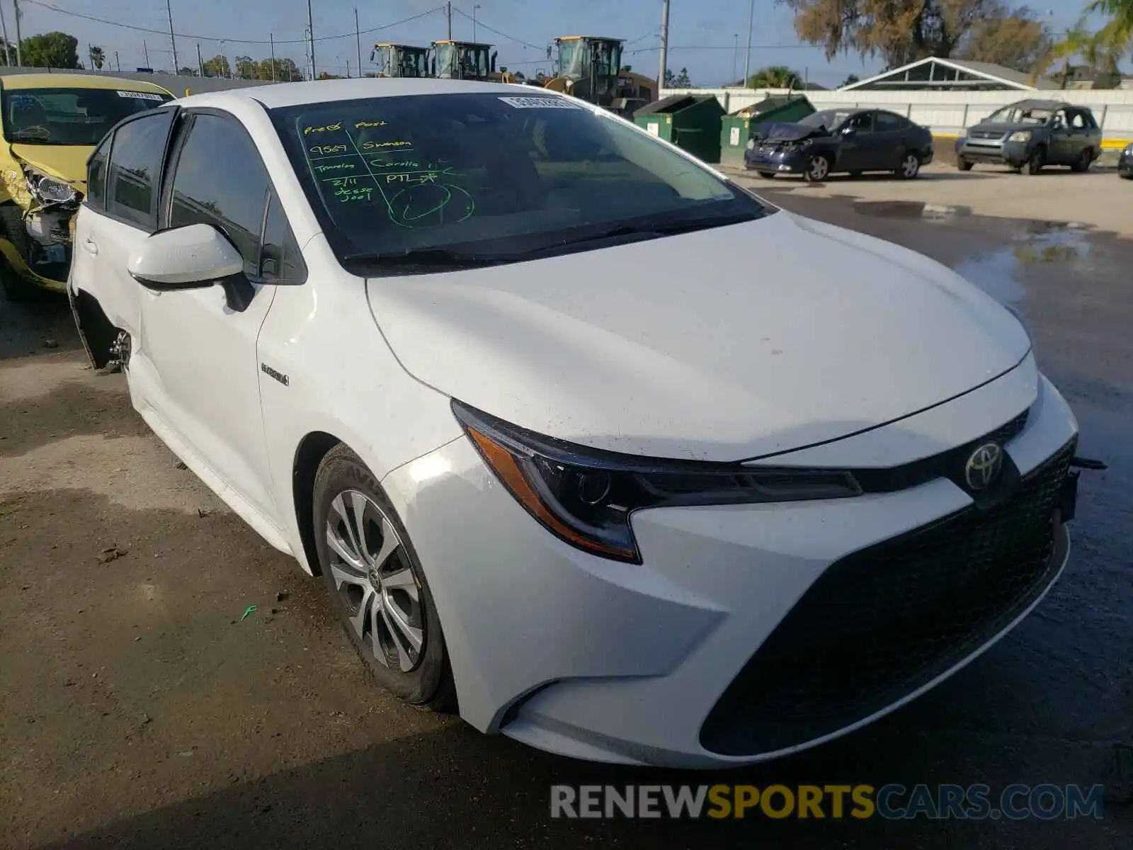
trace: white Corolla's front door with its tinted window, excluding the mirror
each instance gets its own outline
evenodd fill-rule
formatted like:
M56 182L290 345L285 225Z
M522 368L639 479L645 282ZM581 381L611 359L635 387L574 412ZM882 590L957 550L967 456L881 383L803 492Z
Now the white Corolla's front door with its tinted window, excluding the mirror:
M275 287L256 282L271 184L255 143L233 117L196 112L179 136L172 173L163 181L162 226L204 222L220 229L244 256L255 295L241 311L219 286L145 292L143 345L161 386L155 407L213 473L278 524L256 358L275 296Z

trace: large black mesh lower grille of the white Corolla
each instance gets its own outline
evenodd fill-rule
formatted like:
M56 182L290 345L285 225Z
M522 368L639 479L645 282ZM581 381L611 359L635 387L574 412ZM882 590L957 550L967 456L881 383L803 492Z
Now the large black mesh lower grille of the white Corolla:
M892 705L1004 629L1051 581L1067 443L987 510L966 508L830 566L713 707L705 748L769 753Z

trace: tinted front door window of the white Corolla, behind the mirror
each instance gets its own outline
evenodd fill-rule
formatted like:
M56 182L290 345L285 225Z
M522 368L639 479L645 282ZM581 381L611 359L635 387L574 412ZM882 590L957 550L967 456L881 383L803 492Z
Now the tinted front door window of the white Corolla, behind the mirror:
M213 224L259 273L259 235L270 188L255 143L235 118L198 113L189 125L173 171L169 227Z

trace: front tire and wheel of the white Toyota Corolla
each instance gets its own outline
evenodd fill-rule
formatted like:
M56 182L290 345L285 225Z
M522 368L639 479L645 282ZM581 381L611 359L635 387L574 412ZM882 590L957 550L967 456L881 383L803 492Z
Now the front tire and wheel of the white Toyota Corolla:
M417 552L373 473L346 445L332 449L318 465L312 510L331 607L370 674L403 703L453 711L457 689L449 653ZM337 547L329 542L332 536ZM357 556L359 550L364 558ZM351 567L340 552L352 554L365 569ZM381 614L383 605L390 615ZM411 630L419 637L416 653Z

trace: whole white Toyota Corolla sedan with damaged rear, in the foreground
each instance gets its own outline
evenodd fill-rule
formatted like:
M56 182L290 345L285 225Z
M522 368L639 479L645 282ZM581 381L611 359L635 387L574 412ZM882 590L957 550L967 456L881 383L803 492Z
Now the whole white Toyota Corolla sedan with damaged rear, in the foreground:
M570 97L186 97L102 142L75 244L92 360L381 685L484 732L780 756L1066 563L1077 427L1015 316Z

